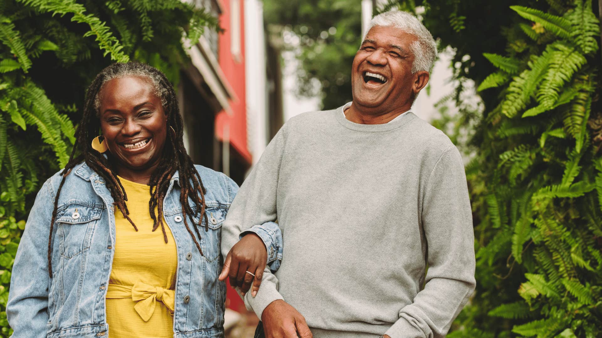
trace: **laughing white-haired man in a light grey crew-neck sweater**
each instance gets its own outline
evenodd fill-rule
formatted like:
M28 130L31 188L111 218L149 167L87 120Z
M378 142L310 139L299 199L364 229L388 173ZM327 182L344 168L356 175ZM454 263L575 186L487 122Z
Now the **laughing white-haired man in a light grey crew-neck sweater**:
M410 112L435 56L411 14L374 17L353 60L353 102L291 118L244 182L222 253L278 220L281 266L244 296L266 337L443 337L473 292L462 158ZM245 270L231 266L231 282L244 272L248 288Z

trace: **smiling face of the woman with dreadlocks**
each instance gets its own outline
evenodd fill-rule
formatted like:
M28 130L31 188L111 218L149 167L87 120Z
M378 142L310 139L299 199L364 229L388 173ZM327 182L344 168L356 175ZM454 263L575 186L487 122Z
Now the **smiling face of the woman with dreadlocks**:
M102 135L117 173L150 177L167 137L167 117L151 80L138 76L112 79L99 96Z

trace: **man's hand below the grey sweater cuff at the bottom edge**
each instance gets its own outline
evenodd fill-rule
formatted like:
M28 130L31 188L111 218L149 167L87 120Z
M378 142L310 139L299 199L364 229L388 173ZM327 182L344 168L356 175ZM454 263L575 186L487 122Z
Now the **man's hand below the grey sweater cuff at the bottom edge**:
M312 338L305 318L283 300L275 300L261 314L265 338Z

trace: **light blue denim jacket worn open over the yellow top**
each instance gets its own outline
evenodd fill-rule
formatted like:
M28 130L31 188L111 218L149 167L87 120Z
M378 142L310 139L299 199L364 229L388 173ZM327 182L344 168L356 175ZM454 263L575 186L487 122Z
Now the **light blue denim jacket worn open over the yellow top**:
M209 229L197 238L204 256L182 221L177 172L163 203L178 252L173 336L223 337L226 284L217 280L223 262L221 227L238 186L222 173L200 165L196 169L207 191ZM7 304L14 338L108 336L105 295L115 247L113 198L102 177L85 163L73 168L58 200L49 278L48 231L60 180L57 173L40 189L17 250ZM262 224L253 230L264 241L268 262L278 264L278 225Z

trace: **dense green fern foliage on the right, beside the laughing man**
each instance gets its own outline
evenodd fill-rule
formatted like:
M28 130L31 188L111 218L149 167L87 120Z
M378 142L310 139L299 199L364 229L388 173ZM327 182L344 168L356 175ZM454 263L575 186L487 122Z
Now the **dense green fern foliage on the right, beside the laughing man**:
M483 54L495 68L479 90L494 108L473 139L479 167L467 170L480 284L455 327L495 337L597 337L598 19L589 0L510 8L531 23L505 30L506 55ZM488 98L489 88L496 92Z

